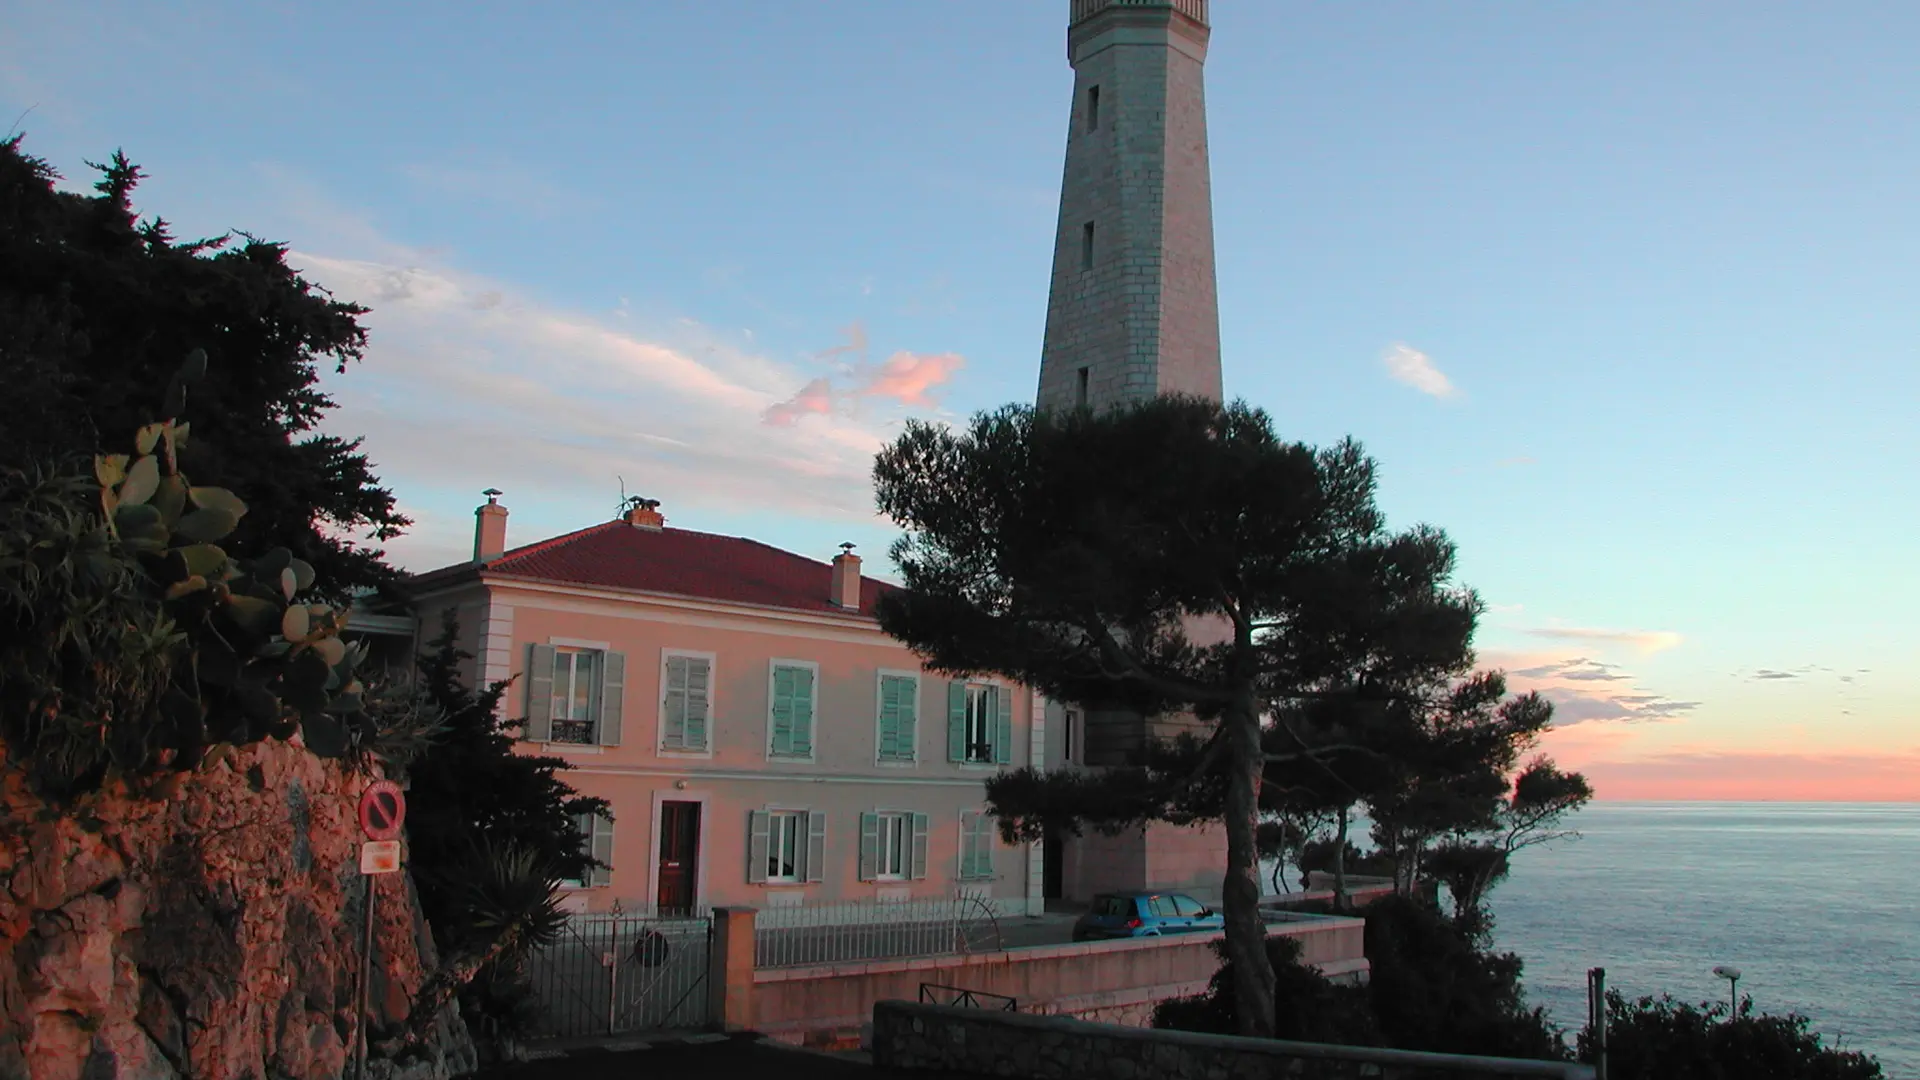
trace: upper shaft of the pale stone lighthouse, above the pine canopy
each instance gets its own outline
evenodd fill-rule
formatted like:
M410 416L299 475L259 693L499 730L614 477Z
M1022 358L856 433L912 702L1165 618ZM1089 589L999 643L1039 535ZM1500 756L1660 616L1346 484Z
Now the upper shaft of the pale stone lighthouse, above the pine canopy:
M1073 110L1041 407L1221 396L1208 0L1069 0Z

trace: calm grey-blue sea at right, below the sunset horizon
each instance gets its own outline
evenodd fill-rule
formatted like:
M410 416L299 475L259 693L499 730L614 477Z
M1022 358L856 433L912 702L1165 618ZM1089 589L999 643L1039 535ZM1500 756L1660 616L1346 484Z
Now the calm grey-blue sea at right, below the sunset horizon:
M1576 1030L1586 970L1628 997L1797 1011L1920 1080L1920 803L1590 803L1492 897L1528 1001Z

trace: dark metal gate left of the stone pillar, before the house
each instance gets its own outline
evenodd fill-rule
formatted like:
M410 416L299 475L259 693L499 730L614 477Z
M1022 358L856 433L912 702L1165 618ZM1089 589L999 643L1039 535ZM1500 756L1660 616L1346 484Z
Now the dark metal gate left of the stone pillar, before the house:
M708 917L574 915L534 953L541 1038L703 1028Z

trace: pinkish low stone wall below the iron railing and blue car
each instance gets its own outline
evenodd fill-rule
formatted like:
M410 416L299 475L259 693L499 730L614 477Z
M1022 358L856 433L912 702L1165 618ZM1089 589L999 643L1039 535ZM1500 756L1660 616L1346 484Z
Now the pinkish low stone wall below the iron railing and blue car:
M1365 922L1327 915L1288 915L1267 926L1300 942L1302 963L1331 978L1367 974ZM1046 1013L1146 1024L1154 1005L1202 994L1219 955L1213 934L1081 942L958 957L916 957L753 972L753 1013L743 1026L799 1042L860 1030L877 1001L912 1001L922 984L956 986L1020 1001Z

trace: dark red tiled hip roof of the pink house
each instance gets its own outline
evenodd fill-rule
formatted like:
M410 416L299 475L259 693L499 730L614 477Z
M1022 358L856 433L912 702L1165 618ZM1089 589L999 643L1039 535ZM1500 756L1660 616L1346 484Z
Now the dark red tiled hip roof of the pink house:
M438 578L457 569L474 567L449 567L428 577ZM486 563L484 573L795 611L847 611L829 600L833 580L829 563L739 536L687 528L636 528L626 521L609 521L515 548ZM874 601L885 588L893 586L870 577L860 578L860 615L874 613Z

